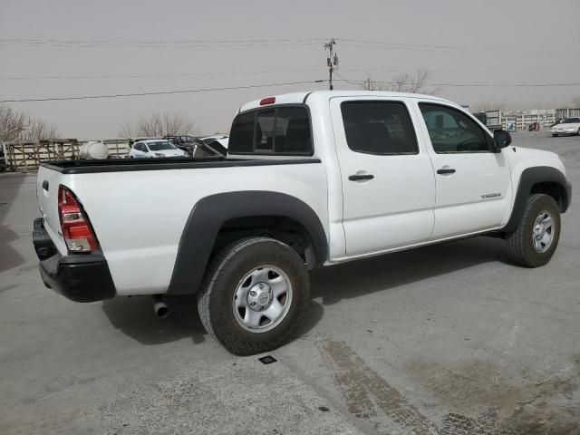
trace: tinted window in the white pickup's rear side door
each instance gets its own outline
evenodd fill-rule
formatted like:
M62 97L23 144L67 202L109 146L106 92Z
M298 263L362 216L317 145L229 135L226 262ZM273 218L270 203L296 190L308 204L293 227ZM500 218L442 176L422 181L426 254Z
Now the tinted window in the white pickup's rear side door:
M402 102L343 102L348 148L365 154L417 154L411 116Z

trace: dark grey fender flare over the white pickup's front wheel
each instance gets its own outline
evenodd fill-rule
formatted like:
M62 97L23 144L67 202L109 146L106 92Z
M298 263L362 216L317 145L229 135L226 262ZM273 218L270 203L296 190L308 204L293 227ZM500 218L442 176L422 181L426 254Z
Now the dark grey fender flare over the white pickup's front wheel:
M559 204L562 213L568 208L570 198L572 195L572 186L565 179L565 175L556 168L549 166L536 166L527 168L522 171L517 186L516 198L514 199L514 207L511 210L511 216L507 221L504 231L511 231L517 228L519 221L526 210L527 198L530 197L532 188L537 183L556 183L561 191L564 192L562 203Z

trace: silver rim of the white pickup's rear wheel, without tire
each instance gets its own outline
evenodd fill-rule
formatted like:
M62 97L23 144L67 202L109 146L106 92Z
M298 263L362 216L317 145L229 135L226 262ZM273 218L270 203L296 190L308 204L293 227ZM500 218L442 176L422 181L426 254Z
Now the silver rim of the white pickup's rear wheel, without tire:
M250 333L266 333L285 319L292 295L292 283L284 270L271 265L256 267L237 284L234 318Z

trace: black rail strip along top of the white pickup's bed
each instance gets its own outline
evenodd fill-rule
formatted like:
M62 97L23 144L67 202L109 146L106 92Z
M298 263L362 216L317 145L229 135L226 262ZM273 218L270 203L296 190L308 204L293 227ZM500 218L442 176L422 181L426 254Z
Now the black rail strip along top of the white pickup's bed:
M62 174L92 174L137 170L208 169L247 166L297 165L320 163L312 158L229 159L225 157L169 157L160 159L53 160L41 163L46 169Z

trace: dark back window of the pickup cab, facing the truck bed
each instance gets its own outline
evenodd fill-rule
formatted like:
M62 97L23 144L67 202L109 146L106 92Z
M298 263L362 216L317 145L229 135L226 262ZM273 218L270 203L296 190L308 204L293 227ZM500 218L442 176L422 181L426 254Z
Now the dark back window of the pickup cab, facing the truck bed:
M237 115L230 154L312 155L310 115L304 106L278 106Z

